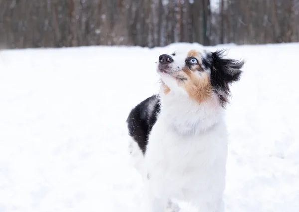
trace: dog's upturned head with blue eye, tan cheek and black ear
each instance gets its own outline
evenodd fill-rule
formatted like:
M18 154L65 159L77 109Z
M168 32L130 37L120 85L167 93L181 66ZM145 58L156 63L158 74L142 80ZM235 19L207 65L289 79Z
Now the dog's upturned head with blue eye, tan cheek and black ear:
M159 56L157 66L164 93L183 91L198 103L217 94L222 107L230 96L229 85L240 79L243 61L226 59L223 51L175 51Z

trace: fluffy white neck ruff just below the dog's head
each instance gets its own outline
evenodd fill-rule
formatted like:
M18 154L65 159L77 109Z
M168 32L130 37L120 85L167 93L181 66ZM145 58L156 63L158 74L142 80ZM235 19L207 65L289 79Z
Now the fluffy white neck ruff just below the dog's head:
M199 104L180 92L160 92L162 119L168 127L181 135L196 135L211 129L223 117L223 108L216 94Z

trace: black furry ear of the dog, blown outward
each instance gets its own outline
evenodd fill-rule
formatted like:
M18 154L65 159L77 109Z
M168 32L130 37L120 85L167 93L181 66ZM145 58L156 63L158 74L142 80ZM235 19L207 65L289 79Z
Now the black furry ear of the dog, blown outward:
M229 85L240 80L244 61L223 57L223 50L211 53L211 83L223 107L230 97Z

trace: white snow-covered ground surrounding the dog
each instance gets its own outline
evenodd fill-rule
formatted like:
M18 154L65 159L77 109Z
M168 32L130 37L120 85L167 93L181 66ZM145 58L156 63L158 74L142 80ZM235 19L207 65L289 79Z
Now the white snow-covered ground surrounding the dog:
M179 45L199 47L0 51L0 212L136 212L125 120ZM246 60L227 108L227 212L299 212L299 44L216 48Z

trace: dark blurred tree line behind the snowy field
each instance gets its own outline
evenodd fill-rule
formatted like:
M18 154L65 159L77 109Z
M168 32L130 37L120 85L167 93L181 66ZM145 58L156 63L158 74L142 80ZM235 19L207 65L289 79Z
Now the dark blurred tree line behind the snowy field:
M299 42L299 0L0 0L0 44Z

